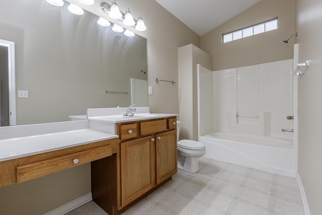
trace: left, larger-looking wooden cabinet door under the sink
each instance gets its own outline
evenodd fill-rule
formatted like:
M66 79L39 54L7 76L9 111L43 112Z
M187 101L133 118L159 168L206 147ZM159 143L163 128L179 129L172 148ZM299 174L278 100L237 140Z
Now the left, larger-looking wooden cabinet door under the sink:
M147 136L121 143L122 207L155 184L155 141Z

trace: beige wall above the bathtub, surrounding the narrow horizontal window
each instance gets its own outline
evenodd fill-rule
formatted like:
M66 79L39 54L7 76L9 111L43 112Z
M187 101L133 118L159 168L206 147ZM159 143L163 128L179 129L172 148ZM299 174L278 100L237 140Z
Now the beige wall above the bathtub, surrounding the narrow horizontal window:
M277 30L221 43L221 35L278 17ZM262 0L201 37L201 49L212 56L213 70L293 58L295 0Z

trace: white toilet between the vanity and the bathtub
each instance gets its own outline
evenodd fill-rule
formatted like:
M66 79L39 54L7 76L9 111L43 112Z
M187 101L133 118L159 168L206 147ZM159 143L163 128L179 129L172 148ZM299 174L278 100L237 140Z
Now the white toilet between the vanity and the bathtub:
M180 121L177 121L177 139L179 139ZM178 168L195 173L199 170L198 158L206 154L206 146L201 142L182 139L177 142Z

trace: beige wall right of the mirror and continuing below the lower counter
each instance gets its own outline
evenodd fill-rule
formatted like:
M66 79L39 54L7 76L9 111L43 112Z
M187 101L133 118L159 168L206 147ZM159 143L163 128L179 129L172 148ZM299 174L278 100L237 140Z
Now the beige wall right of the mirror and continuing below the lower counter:
M93 11L102 14L98 2ZM140 35L147 39L148 85L153 87L153 95L148 98L150 111L178 113L178 84L156 84L154 79L178 82L178 47L190 43L200 46L200 37L155 1L117 3L122 11L130 8L134 17L140 14L147 26ZM40 214L82 196L91 191L90 169L89 165L82 165L79 169L0 188L0 214ZM15 212L7 212L12 208Z

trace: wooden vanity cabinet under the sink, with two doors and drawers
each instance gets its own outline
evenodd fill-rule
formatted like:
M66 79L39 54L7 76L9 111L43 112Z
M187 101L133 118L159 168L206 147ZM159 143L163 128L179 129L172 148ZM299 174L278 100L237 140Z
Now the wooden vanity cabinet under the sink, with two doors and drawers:
M177 172L176 121L165 117L115 124L119 153L91 164L93 200L109 214L125 211Z

